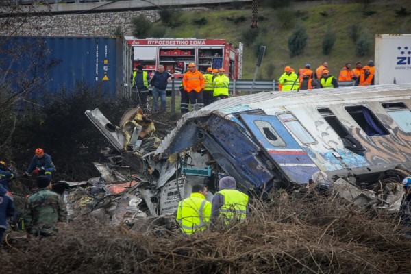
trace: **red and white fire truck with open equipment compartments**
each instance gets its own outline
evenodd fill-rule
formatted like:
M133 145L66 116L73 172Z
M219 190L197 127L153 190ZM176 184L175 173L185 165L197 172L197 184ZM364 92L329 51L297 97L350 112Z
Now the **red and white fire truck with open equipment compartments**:
M177 79L186 73L188 64L194 63L203 73L208 67L223 68L231 79L241 79L241 43L236 49L223 39L125 38L134 49L134 67L141 64L150 74L162 64Z

